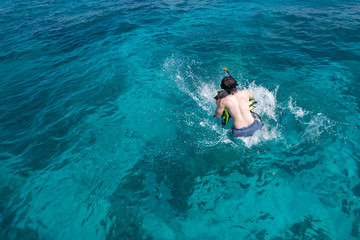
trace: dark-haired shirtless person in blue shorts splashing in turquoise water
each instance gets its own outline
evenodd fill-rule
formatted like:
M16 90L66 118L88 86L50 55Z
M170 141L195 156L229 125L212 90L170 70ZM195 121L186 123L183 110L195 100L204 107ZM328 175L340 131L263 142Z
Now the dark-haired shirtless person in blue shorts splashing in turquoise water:
M251 114L249 110L249 99L253 99L254 95L248 90L238 91L236 89L237 82L232 77L224 77L221 81L221 88L229 95L222 99L216 100L215 117L219 118L226 108L233 118L233 126L230 129L232 137L249 137L255 131L260 130L262 125L260 119Z

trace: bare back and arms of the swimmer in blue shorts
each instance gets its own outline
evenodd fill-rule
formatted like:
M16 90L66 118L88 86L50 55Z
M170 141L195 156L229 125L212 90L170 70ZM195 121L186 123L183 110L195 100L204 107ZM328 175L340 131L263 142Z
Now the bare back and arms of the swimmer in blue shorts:
M226 108L233 118L233 126L237 129L249 126L254 122L254 118L249 110L249 99L254 95L248 90L236 91L227 97L217 100L215 117L219 118Z

